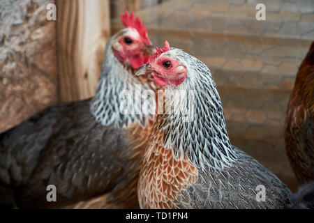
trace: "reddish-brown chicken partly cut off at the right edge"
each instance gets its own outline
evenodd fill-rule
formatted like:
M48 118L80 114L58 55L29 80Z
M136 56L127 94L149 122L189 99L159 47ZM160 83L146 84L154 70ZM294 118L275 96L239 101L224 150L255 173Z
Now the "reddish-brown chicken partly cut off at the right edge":
M314 42L301 63L287 106L285 149L299 183L314 180Z

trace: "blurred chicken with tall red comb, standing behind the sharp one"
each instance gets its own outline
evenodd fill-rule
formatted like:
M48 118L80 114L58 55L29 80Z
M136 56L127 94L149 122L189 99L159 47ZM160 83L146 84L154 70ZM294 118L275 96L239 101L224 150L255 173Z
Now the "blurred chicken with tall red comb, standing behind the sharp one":
M120 94L154 88L152 79L134 76L152 47L140 18L126 11L121 20L126 29L107 42L94 98L49 107L0 134L0 186L13 190L17 207L57 208L98 196L89 207L139 207L142 150L155 115L121 114ZM57 189L56 202L46 199L48 185Z

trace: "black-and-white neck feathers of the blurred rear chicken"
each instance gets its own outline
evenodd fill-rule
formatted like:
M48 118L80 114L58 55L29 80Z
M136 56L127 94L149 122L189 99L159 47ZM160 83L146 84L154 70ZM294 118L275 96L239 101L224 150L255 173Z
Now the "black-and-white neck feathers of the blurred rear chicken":
M102 125L128 128L128 125L138 123L145 126L149 120L154 118L155 114L144 114L142 112L141 95L154 86L151 85L149 79L144 80L146 81L144 82L135 78L134 75L130 75L130 72L134 71L131 68L125 68L117 60L111 49L112 40L115 38L117 37L114 36L107 43L102 73L100 74L96 95L91 103L91 113ZM132 103L133 111L128 109L125 114L122 114L121 105L125 105L129 100L124 98L124 93L126 93L125 96L131 96L134 103ZM149 104L154 106L155 98L151 98ZM155 111L154 108L153 111Z

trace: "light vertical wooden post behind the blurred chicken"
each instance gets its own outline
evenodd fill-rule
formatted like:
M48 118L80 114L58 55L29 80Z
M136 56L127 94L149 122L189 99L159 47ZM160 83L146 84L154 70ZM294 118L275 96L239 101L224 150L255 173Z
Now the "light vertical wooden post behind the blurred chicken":
M57 0L57 58L61 101L94 96L108 38L109 0Z

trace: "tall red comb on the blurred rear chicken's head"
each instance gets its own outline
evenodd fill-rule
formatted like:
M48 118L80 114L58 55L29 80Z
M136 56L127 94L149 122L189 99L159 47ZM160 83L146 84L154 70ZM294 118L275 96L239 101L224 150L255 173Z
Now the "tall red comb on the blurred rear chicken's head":
M151 44L151 40L147 37L147 30L145 28L145 25L142 24L142 21L140 20L140 17L134 18L134 13L128 14L128 10L124 10L124 15L121 15L121 21L126 28L134 28L137 30L137 32L142 36L144 43Z

